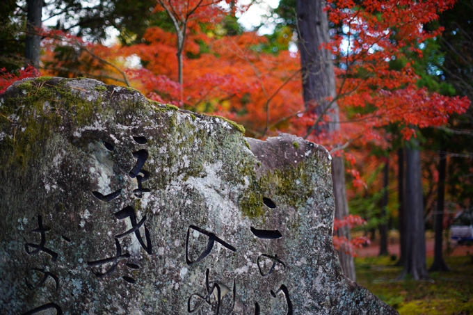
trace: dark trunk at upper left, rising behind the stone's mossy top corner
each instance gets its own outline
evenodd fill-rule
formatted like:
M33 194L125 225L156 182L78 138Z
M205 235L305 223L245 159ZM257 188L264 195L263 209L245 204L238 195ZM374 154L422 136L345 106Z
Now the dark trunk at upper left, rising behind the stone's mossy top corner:
M26 17L25 65L40 68L42 0L27 0L28 15Z

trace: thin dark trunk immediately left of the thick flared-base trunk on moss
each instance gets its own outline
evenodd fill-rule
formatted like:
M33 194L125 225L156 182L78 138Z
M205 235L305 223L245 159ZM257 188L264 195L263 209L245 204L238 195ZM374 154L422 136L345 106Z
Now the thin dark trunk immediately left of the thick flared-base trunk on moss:
M406 202L404 200L404 175L406 170L404 169L404 150L401 148L397 150L397 191L398 191L398 202L399 202L399 260L396 262L396 266L404 266L404 257L406 256Z

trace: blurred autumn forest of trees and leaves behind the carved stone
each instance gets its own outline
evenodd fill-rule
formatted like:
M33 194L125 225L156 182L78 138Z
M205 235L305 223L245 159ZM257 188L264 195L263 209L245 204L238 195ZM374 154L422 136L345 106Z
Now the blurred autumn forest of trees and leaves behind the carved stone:
M472 19L470 0L4 0L0 92L86 76L225 116L248 137L321 143L345 275L379 263L431 280L451 270L455 216L473 211ZM392 260L354 261L370 240Z

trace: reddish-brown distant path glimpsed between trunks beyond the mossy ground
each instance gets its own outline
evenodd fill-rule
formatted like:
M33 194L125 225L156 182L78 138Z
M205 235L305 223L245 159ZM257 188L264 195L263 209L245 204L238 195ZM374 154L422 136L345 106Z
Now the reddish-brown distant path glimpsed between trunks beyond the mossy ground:
M443 244L444 250L447 248L447 245ZM426 252L427 252L427 257L433 257L433 248L434 248L434 240L433 239L427 239L426 240ZM465 256L468 255L468 252L470 252L470 255L473 255L473 246L470 245L457 245L456 242L451 242L451 248L453 249L453 252L451 252L451 256ZM390 255L396 255L399 258L399 240L398 239L390 239L390 244L387 245L387 251L390 253ZM358 257L373 257L373 256L378 256L379 254L379 240L372 241L371 245L365 248L357 248L356 252L358 254Z

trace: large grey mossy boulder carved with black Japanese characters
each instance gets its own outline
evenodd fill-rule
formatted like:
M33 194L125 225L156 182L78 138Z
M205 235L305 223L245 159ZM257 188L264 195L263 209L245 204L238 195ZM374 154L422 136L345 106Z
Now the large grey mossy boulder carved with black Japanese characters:
M323 147L91 79L0 102L1 314L397 314L341 275Z

